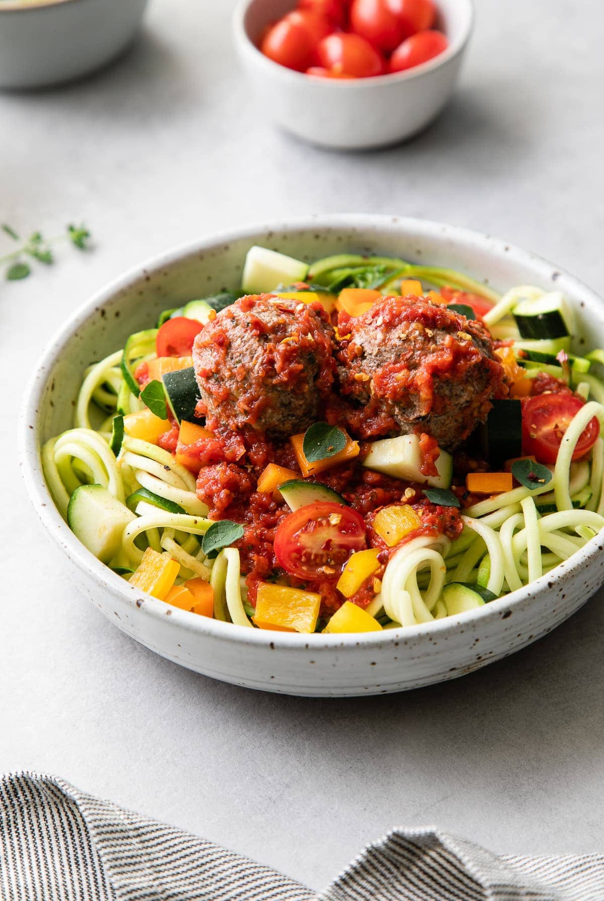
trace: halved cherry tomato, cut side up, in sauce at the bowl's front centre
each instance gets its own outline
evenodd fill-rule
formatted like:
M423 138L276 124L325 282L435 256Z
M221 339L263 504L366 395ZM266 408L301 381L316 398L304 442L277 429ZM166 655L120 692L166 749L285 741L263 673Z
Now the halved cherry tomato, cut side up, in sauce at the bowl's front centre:
M339 578L350 554L365 547L363 517L342 504L300 507L275 532L275 557L298 578Z

